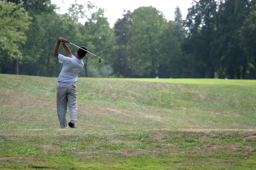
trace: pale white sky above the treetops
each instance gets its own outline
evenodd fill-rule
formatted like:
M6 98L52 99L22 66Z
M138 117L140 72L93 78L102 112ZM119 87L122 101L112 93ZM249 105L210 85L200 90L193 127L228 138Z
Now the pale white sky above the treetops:
M123 9L133 12L141 6L153 6L157 10L162 11L167 20L174 20L176 6L180 7L183 19L186 18L187 9L192 6L192 0L52 0L52 3L61 8L59 13L64 14L67 12L68 7L70 7L70 4L76 2L83 4L87 1L105 8L105 17L108 17L111 27L113 27L118 18L122 18Z

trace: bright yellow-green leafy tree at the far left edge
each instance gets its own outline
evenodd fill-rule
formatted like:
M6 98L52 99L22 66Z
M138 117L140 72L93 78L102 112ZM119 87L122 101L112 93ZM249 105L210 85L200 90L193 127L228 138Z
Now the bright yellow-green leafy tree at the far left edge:
M2 73L5 73L6 65L13 60L14 65L22 58L19 48L26 42L24 31L29 29L31 17L25 9L15 3L0 1L0 56ZM14 70L18 74L18 69Z

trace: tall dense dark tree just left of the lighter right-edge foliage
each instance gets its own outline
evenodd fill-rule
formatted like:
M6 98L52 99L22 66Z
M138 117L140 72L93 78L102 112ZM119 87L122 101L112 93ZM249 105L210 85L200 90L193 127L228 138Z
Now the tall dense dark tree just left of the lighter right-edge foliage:
M255 0L226 0L220 18L221 66L230 79L245 78L248 57L241 40L244 20L255 9Z

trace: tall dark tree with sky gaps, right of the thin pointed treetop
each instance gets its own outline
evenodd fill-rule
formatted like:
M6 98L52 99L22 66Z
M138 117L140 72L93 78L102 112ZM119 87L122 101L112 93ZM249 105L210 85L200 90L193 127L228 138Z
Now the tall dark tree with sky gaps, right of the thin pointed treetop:
M191 42L197 42L193 56L200 68L199 71L202 72L202 78L214 78L218 68L219 56L216 53L216 45L222 6L223 0L194 1L194 5L188 10L184 24L188 29L187 36Z

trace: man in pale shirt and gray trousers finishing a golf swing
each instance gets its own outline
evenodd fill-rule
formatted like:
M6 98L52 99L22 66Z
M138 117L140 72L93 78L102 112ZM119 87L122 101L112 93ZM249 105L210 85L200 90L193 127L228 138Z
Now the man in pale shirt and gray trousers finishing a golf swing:
M59 54L59 46L62 45L67 53L68 57ZM70 122L69 127L76 128L76 116L77 116L77 91L76 91L76 81L78 74L84 66L84 62L81 60L87 53L79 48L77 50L76 57L73 56L70 49L66 44L67 40L59 37L54 50L54 56L59 59L59 62L63 64L61 73L58 77L57 86L57 113L58 120L60 122L61 128L67 127L67 106L70 110ZM81 47L85 50L87 48Z

